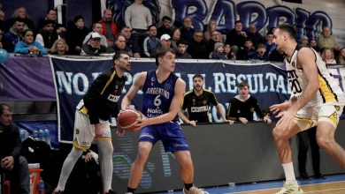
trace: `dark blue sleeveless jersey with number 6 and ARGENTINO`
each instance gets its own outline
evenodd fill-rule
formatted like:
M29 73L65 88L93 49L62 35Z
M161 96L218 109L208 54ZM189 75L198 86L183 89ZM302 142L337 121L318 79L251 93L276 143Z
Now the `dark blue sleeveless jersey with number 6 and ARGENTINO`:
M152 118L169 112L177 78L171 73L163 83L158 83L156 71L148 71L142 87L142 114Z

